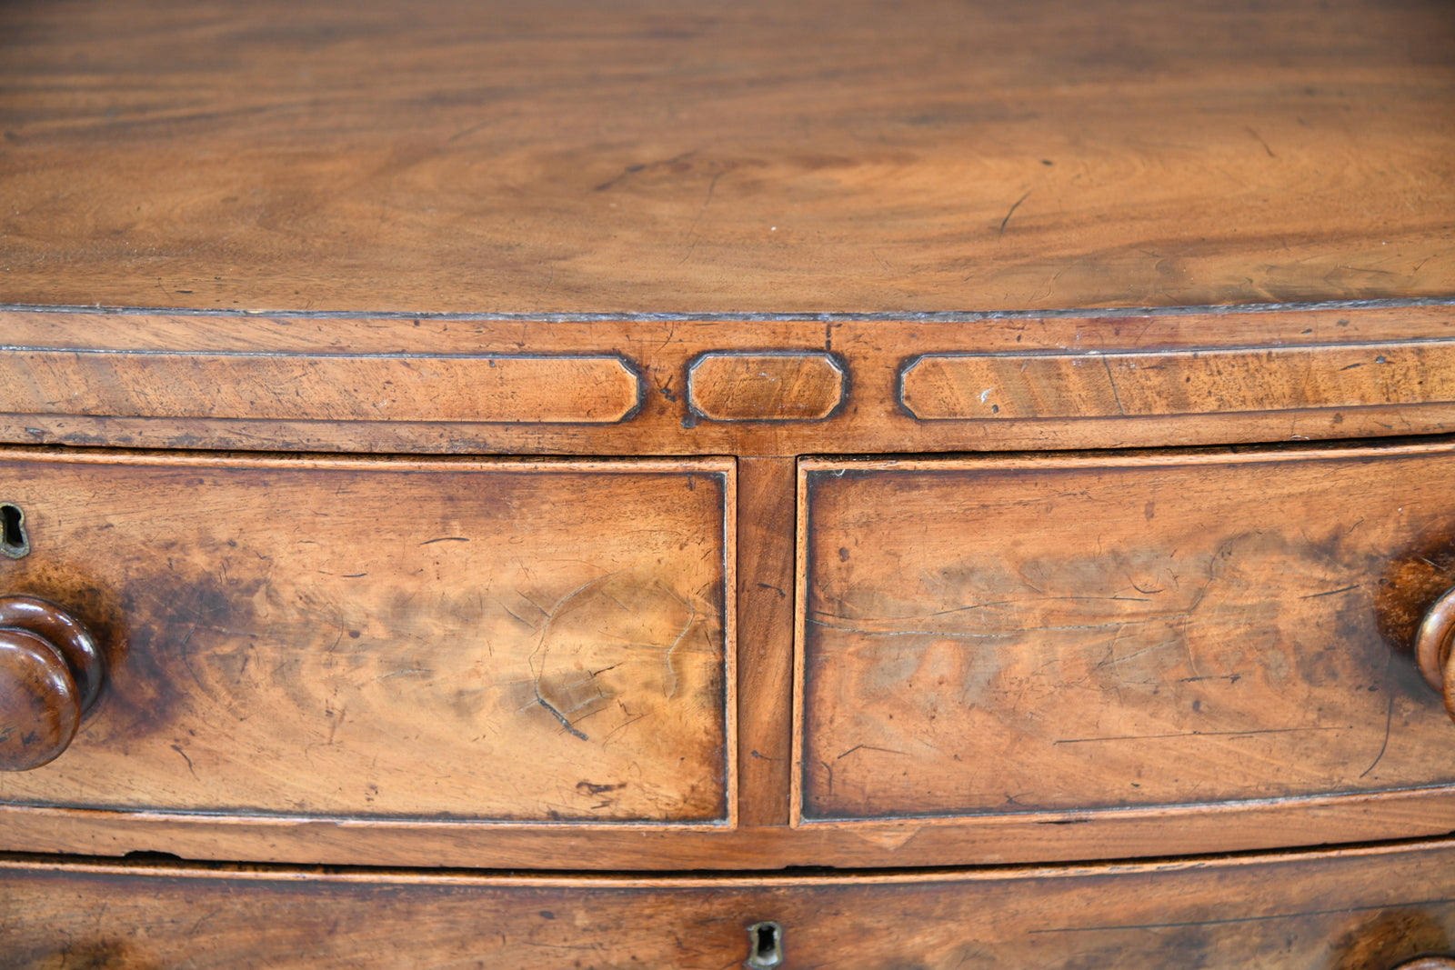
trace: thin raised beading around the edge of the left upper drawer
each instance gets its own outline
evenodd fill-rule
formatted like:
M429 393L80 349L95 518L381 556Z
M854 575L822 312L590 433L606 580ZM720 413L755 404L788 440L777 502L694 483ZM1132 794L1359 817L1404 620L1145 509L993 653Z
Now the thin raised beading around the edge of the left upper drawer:
M624 819L620 822L576 820L576 819L469 819L428 817L407 814L333 814L297 811L239 810L178 810L166 807L77 807L28 803L0 804L0 816L33 816L76 820L131 819L153 823L224 825L224 826L294 826L326 825L359 827L365 830L501 830L501 832L630 832L633 829L652 832L728 832L738 827L738 682L736 682L736 460L719 457L672 458L476 458L476 457L327 457L303 455L297 458L247 455L247 454L199 454L159 451L115 451L115 449L36 449L22 446L0 448L0 457L7 462L70 464L70 465L125 465L194 468L196 471L220 468L258 468L268 471L349 471L372 474L639 474L639 476L716 476L722 481L722 700L719 717L722 740L717 761L722 765L723 814L710 820L645 820ZM122 662L124 663L124 662ZM105 698L103 698L105 700ZM64 755L63 755L64 758Z

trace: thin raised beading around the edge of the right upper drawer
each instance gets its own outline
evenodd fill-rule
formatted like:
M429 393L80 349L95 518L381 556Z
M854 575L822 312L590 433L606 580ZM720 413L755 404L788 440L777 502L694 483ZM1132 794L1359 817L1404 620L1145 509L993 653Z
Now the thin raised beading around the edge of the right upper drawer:
M1414 787L1368 788L1358 791L1327 791L1317 794L1293 794L1272 798L1227 798L1205 803L1174 803L1174 804L1136 804L1087 809L1053 809L1030 811L960 811L943 814L905 814L880 817L832 816L812 817L805 811L808 797L805 761L805 731L808 724L806 708L806 644L808 644L808 604L809 604L809 538L812 534L812 503L810 478L813 476L844 477L856 473L876 471L970 471L976 467L985 470L1096 470L1096 468L1177 468L1197 465L1257 465L1283 464L1327 460L1360 458L1394 458L1394 457L1451 457L1455 458L1455 444L1448 442L1417 442L1382 445L1359 442L1347 446L1328 445L1293 445L1285 448L1267 448L1260 451L1245 451L1234 454L1219 454L1203 449L1167 449L1167 451L1129 451L1129 452L1069 452L1069 454L1032 454L1032 455L966 455L956 458L851 458L815 455L799 460L797 468L797 524L796 524L796 577L794 577L794 633L793 633L793 730L792 730L792 772L789 798L789 825L802 827L844 827L861 832L902 832L904 838L921 827L959 827L976 829L984 826L1014 825L1026 822L1030 825L1075 825L1097 819L1145 819L1155 823L1163 819L1187 819L1208 816L1237 816L1238 813L1253 813L1261 816L1267 811L1282 814L1285 811L1308 810L1349 810L1359 811L1363 806L1388 804L1390 800L1413 798L1422 804L1439 804L1455 797L1455 782L1429 784ZM1427 801L1426 801L1427 800ZM872 836L870 836L872 838Z

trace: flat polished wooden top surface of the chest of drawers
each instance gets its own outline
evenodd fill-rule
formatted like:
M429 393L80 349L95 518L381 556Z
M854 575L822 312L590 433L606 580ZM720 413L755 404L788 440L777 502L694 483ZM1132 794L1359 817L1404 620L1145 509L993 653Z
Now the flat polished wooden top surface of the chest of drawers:
M22 0L0 302L1455 297L1455 7Z

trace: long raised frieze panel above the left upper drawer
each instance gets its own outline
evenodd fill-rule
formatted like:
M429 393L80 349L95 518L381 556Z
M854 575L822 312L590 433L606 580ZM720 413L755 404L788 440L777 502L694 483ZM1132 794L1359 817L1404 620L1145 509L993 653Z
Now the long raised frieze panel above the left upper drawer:
M0 412L15 414L604 425L642 393L620 356L0 348Z

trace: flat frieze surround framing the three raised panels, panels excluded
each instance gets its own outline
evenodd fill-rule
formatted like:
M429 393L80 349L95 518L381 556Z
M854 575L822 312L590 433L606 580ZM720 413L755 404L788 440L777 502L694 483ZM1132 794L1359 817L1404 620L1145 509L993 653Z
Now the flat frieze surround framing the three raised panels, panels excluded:
M921 422L899 404L906 361L922 353L1205 352L1455 339L1455 304L1237 313L966 317L949 320L486 320L249 314L0 311L12 348L170 355L620 353L642 368L646 398L620 425L282 422L208 417L6 414L0 441L146 448L242 448L554 455L800 455L1165 446L1455 432L1455 404L1254 410L1164 417ZM703 353L822 348L848 369L853 400L822 422L700 420L687 371ZM1296 385L1279 374L1270 401ZM80 378L77 378L80 380ZM61 384L65 381L63 380ZM148 391L141 385L128 391ZM198 391L226 398L227 391ZM978 391L976 391L978 393ZM322 407L322 403L319 404ZM3 500L4 496L0 496Z

